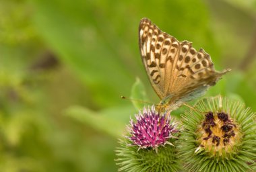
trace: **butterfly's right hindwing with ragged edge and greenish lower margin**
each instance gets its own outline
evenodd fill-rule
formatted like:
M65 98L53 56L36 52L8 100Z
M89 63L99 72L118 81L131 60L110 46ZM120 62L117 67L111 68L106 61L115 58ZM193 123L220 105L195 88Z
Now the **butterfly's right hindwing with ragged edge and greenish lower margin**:
M174 84L169 90L173 95L170 104L183 103L199 97L229 71L215 71L210 55L203 49L196 52L192 47L176 69L172 74Z

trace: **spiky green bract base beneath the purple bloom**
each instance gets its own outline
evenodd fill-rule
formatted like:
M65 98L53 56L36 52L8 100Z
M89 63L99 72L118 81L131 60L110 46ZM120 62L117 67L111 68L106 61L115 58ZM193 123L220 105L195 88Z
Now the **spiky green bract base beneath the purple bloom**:
M174 143L174 139L170 138L169 142ZM176 156L177 149L175 146L166 144L159 146L158 152L153 148L140 148L139 146L128 146L131 144L129 138L120 140L120 147L117 148L117 165L120 166L119 171L163 171L172 172L179 171L181 164Z

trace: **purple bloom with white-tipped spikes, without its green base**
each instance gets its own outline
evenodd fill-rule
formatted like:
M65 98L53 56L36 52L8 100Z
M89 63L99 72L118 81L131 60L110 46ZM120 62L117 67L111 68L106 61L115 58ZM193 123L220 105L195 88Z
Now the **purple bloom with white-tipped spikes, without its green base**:
M167 140L172 137L172 133L178 131L176 126L170 124L170 116L160 115L154 105L151 110L144 107L143 114L139 112L135 118L137 122L132 119L130 121L128 129L131 136L128 138L139 148L157 148L159 145L171 144Z

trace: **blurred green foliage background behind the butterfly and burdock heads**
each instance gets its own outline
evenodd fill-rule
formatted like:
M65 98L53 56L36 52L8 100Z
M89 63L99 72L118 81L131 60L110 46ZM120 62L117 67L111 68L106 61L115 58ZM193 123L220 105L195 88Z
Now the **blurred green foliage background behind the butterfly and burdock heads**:
M139 20L231 68L207 95L256 110L256 1L0 0L0 171L117 171L136 77ZM173 114L183 112L183 107Z

